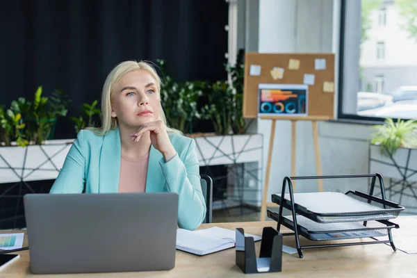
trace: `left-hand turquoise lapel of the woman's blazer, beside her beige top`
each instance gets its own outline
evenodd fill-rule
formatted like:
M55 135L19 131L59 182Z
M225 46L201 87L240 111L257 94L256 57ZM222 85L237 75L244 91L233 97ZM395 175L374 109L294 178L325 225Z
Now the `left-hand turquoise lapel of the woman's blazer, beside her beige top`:
M99 193L118 192L121 154L120 131L117 128L103 138L99 158Z

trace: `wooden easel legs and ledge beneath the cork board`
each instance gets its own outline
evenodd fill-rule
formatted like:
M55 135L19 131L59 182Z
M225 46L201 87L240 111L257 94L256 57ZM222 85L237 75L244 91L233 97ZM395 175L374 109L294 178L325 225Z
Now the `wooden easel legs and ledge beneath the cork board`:
M329 117L321 117L321 116L307 116L307 117L267 117L262 116L262 120L272 120L272 126L271 126L271 133L270 133L270 143L269 143L269 149L268 149L268 161L266 164L266 173L265 173L265 179L264 186L263 186L263 199L262 199L262 206L261 206L261 221L265 220L266 216L266 208L270 206L277 206L273 202L266 202L266 199L268 197L268 188L269 188L269 182L270 182L270 170L271 170L271 164L272 164L272 152L274 149L274 140L275 140L275 126L277 124L277 120L290 120L291 121L291 176L295 177L295 170L296 170L296 163L295 163L295 148L296 148L296 138L297 138L297 129L296 124L297 121L311 121L311 124L313 126L313 141L314 141L314 154L316 155L316 170L317 175L322 175L322 169L321 169L321 162L320 162L320 147L318 142L318 129L317 129L317 121L320 120L329 120ZM295 191L295 183L293 183L293 190ZM322 180L318 180L318 191L323 191L323 183Z

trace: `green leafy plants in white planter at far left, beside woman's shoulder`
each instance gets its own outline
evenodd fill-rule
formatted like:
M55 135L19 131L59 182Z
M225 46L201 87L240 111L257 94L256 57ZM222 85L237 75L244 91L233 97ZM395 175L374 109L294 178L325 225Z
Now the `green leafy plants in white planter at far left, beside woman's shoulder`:
M69 102L62 91L42 97L39 87L33 101L23 97L0 109L0 183L55 179L70 144L53 137L58 116L67 114Z

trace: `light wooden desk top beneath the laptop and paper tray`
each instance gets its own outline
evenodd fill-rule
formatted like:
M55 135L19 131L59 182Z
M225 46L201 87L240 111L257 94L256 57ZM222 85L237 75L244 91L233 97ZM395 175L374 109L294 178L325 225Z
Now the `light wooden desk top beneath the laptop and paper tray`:
M404 241L416 244L417 216L400 216L393 220L400 229L393 229L394 243ZM224 227L243 228L245 233L261 236L262 228L275 227L276 222L231 222L202 224L199 229ZM400 232L402 230L402 232ZM282 232L288 231L283 228ZM407 231L407 232L404 232ZM22 231L13 231L22 232ZM408 233L408 234L407 234ZM411 234L410 234L411 233ZM411 235L411 236L410 236ZM302 244L311 244L300 237ZM367 238L364 240L368 240ZM407 241L409 240L409 241ZM284 244L295 246L293 236L284 237ZM329 242L325 242L329 243ZM25 236L24 246L27 245ZM256 256L259 256L260 243L256 243ZM175 268L158 272L97 273L81 275L32 275L29 269L28 250L17 252L21 258L0 272L5 277L243 277L243 272L235 265L235 250L229 249L206 256L195 256L177 251ZM303 250L304 258L297 254L283 254L281 273L263 273L259 277L417 277L417 254L406 254L400 250L393 252L391 246L384 244L354 245L349 247L327 247ZM253 275L250 275L253 276Z

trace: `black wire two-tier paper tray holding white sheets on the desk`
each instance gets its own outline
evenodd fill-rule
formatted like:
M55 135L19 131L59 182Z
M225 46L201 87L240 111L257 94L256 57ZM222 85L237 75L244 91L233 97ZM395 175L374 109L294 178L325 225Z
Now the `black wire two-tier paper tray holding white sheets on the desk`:
M361 202L366 202L368 204L372 204L375 206L377 204L378 207L381 209L379 211L363 211L358 213L312 213L309 208L305 208L298 204L295 204L297 200L294 200L294 193L293 193L293 180L295 179L340 179L340 178L363 178L363 177L371 177L372 181L370 184L370 191L369 194L361 193L358 191L352 192L349 191L345 193L345 195L350 195L355 199L361 199ZM374 188L375 188L375 180L379 179L379 186L381 190L382 198L373 196ZM284 196L286 194L286 186L288 186L290 202L288 199L285 199ZM314 194L314 193L313 193ZM320 194L320 193L319 193ZM312 196L313 197L313 196ZM279 204L279 213L273 213L272 211L268 211L268 217L272 218L273 220L277 221L277 231L279 232L281 228L281 224L284 224L285 227L293 230L293 233L282 234L283 236L295 236L295 245L297 247L297 252L300 258L303 257L302 249L309 249L309 248L322 248L322 247L340 247L340 246L350 246L350 245L369 245L369 244L379 244L379 243L389 243L394 251L397 249L395 248L393 237L391 236L391 229L398 229L398 224L393 222L389 222L386 219L395 218L398 216L400 211L404 210L402 206L394 202L390 202L389 200L385 199L385 191L384 191L384 181L382 180L382 176L380 174L352 174L352 175L338 175L338 176L321 176L321 177L285 177L284 182L282 185L281 195L272 195L272 200L274 200L277 204ZM284 218L282 215L283 208L286 207L291 210L292 217L291 220L288 218ZM331 209L331 208L329 208ZM363 226L360 228L355 227L354 229L333 229L333 230L320 230L320 231L309 231L302 227L300 224L297 224L297 214L302 215L304 218L309 218L313 221L319 222L361 222L363 221ZM370 220L375 220L382 225L379 227L369 227L367 226L367 222ZM384 226L385 225L385 226ZM382 232L383 231L383 232ZM326 238L331 234L337 234L337 237L329 239ZM378 240L375 238L375 234L377 236L388 236L389 240ZM354 243L334 243L334 244L325 244L325 245L300 245L300 238L299 236L304 236L309 240L344 240L344 239L352 239L352 238L373 238L373 241L358 241ZM341 236L345 235L345 236Z

